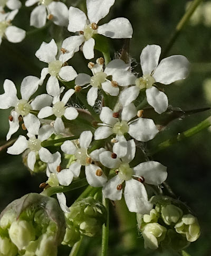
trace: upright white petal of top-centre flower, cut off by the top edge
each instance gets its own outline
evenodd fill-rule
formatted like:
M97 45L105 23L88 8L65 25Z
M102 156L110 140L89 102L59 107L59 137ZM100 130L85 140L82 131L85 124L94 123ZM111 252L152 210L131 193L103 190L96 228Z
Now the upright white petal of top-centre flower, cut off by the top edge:
M98 23L104 18L115 0L87 0L87 15L91 23Z

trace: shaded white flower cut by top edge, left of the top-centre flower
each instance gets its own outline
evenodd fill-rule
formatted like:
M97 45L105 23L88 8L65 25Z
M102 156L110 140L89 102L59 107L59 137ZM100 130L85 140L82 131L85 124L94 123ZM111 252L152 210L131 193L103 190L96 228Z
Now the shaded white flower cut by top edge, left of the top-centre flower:
M38 3L30 16L30 25L35 27L43 27L46 18L59 26L68 26L68 7L62 2L52 0L27 0L25 5L32 6Z

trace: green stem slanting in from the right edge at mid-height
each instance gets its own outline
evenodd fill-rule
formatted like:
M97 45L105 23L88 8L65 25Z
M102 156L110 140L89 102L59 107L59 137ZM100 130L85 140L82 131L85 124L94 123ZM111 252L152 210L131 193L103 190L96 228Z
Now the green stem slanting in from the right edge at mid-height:
M188 129L187 131L179 133L177 136L167 139L162 143L158 144L156 147L149 149L149 155L154 155L161 150L168 148L169 146L177 143L178 141L182 141L188 137L194 136L198 132L208 128L211 126L211 116L206 118L204 121L200 122L200 124Z

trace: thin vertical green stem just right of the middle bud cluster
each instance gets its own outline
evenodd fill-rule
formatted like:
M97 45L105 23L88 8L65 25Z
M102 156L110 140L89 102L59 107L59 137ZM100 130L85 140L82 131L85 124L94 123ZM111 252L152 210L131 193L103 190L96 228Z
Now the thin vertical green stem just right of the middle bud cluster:
M109 200L105 199L104 196L102 196L102 204L105 206L107 210L107 221L106 221L106 225L103 224L102 226L101 256L106 256L107 250L108 250L108 243L109 243Z

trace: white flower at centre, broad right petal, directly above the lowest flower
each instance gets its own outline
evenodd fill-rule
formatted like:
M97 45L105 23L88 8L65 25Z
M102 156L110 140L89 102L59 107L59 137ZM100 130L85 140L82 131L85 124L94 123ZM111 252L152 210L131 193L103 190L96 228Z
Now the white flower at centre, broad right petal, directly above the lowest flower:
M148 118L137 118L133 119L137 115L137 110L135 105L130 103L128 106L123 107L121 112L121 118L119 118L120 113L114 113L110 108L103 107L100 113L100 119L103 121L101 127L97 128L94 132L95 139L105 139L112 134L117 135L117 140L121 143L117 144L117 150L121 151L121 157L126 155L127 143L124 138L124 134L128 134L139 140L148 141L153 139L158 133L154 121Z

